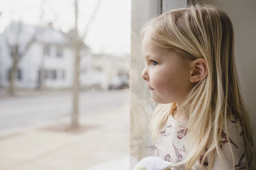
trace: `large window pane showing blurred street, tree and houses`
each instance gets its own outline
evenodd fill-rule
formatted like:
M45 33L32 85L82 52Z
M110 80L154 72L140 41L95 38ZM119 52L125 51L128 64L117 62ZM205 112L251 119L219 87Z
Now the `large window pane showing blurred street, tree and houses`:
M0 167L129 169L131 1L0 2Z

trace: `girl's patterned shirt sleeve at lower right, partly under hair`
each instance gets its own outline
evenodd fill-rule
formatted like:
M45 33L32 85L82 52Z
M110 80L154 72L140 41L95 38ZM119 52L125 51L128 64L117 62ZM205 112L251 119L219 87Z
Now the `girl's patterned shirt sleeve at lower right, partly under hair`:
M233 158L231 155L231 148L228 144L228 138L231 142L231 148L233 150L233 156L235 165L233 164ZM230 121L228 125L228 136L226 132L222 132L222 138L219 142L222 158L220 156L215 157L213 169L247 169L246 166L246 155L244 150L244 132L242 126L236 121ZM224 167L222 161L224 160Z

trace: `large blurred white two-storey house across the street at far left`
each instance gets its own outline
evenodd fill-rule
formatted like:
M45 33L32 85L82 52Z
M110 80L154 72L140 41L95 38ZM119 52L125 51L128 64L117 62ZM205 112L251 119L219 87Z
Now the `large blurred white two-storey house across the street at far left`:
M1 86L8 86L12 64L8 45L17 43L23 50L35 31L36 40L19 62L15 85L18 88L36 88L42 84L46 88L70 87L74 55L65 36L52 27L41 28L20 22L10 23L0 37Z

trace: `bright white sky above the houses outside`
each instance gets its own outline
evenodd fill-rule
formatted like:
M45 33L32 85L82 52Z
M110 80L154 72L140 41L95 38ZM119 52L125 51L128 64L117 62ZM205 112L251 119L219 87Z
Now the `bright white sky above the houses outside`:
M0 33L12 20L41 26L52 22L55 29L67 32L74 27L73 3L74 0L0 0ZM80 32L85 30L97 3L98 0L78 1ZM101 0L85 43L94 53L129 54L130 21L130 0Z

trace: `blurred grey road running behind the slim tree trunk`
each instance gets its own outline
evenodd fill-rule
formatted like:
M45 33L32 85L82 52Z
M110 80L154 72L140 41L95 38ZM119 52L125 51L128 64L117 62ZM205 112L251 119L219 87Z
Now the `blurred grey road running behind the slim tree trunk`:
M127 106L129 90L81 92L80 99L81 116L103 114ZM67 119L71 110L72 94L67 91L5 97L0 99L0 132Z

